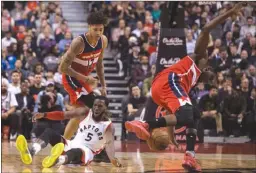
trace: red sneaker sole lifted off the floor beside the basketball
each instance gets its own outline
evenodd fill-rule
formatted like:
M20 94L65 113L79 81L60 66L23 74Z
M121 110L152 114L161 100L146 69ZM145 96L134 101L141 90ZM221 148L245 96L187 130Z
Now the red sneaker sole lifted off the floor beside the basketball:
M125 128L129 131L129 132L133 132L136 134L136 136L142 140L148 140L150 137L149 132L142 127L141 125L135 123L135 122L125 122Z

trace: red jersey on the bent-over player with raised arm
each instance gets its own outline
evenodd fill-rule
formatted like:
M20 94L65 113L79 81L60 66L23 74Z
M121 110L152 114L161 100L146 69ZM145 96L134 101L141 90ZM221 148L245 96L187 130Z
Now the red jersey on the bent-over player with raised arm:
M186 56L178 63L157 74L153 83L156 79L165 79L163 76L168 76L168 80L157 80L157 82L161 81L161 83L166 83L171 88L180 86L186 93L189 93L190 89L196 84L200 74L201 71L196 66L195 62L189 56ZM179 83L179 86L175 85L175 83Z

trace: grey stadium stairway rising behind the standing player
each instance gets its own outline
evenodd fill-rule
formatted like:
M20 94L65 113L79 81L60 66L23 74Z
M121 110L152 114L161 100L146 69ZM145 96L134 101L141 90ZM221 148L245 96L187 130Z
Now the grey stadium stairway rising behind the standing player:
M87 32L88 24L86 22L89 14L88 2L80 1L61 1L60 6L64 18L68 21L68 26L76 37L81 33ZM106 49L104 52L104 69L107 83L107 95L110 100L109 110L112 113L112 121L116 128L115 136L121 136L121 117L122 117L122 99L128 94L128 80L123 75L119 75L114 53ZM96 76L96 72L92 73Z

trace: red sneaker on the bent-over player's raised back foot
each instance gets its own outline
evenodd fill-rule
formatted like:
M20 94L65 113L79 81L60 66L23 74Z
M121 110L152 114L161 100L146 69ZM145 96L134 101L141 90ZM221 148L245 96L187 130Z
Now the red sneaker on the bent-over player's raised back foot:
M143 123L141 121L127 121L125 122L125 128L129 132L133 132L136 136L142 140L148 140L150 133L148 131L148 123Z

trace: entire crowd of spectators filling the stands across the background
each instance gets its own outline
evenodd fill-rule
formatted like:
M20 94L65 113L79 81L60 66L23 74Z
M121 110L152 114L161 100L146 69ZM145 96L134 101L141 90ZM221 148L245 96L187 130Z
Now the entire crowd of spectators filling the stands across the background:
M35 127L40 128L40 124L32 125L32 112L70 108L57 66L72 33L58 2L1 4L2 135L7 139L11 127L10 139L18 133L30 137L31 131L38 135ZM90 3L90 12L103 10L109 18L105 28L109 47L118 52L120 75L131 78L130 93L123 102L123 116L130 120L140 113L149 96L163 5L143 1ZM191 54L202 27L230 9L232 2L182 2L182 6L187 53ZM228 18L211 32L208 56L209 69L216 73L214 85L198 83L190 93L204 129L215 129L209 135L256 139L255 16L255 8L244 7L238 16ZM44 108L44 102L52 105ZM65 123L54 123L64 128Z

